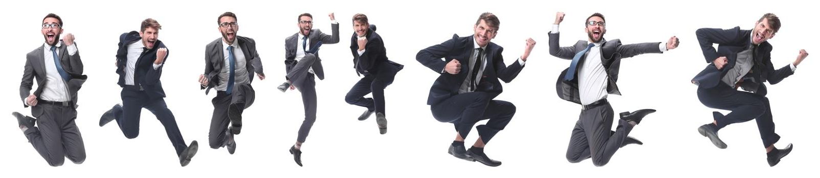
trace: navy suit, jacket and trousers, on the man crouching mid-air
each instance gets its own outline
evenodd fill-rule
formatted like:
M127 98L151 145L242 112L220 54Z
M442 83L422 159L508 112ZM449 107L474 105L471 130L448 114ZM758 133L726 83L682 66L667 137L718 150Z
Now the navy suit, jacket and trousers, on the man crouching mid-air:
M433 86L430 87L430 96L427 98L427 105L430 105L433 117L440 122L452 122L462 138L467 138L476 122L489 118L490 121L486 125L476 127L481 140L487 143L507 126L516 112L512 103L493 100L503 91L499 79L503 82L512 82L524 66L517 61L509 66L504 65L501 56L503 47L490 42L485 47L485 69L481 74L481 80L476 84L476 90L458 94L462 83L470 75L469 66L474 65L470 63L470 57L476 48L473 47L474 40L472 35L462 38L453 35L452 39L419 51L416 60L435 73L440 73L439 78L435 79ZM444 72L444 66L450 60L458 60L462 65L462 71L456 74Z

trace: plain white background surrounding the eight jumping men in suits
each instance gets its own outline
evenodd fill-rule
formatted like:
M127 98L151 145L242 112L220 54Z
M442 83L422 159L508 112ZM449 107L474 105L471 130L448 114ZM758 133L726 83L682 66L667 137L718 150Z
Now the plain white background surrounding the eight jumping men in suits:
M145 176L817 176L820 149L818 124L814 114L818 96L817 56L799 65L795 75L769 86L778 148L794 143L794 151L777 167L768 167L757 126L744 122L720 131L728 149L717 149L696 130L711 122L711 112L700 104L696 87L689 81L703 69L704 58L695 38L695 29L740 26L751 29L767 12L781 17L783 24L775 38L772 63L789 64L803 48L818 53L816 11L813 6L788 1L11 1L0 7L2 28L2 76L6 85L0 93L0 113L30 114L18 96L17 82L25 64L25 54L42 47L40 24L43 16L56 13L65 22L65 33L74 33L88 82L80 90L76 123L82 131L87 160L75 165L66 160L62 167L49 167L17 127L11 115L0 119L0 169L4 177L145 177ZM241 36L255 38L267 79L255 80L256 103L244 113L244 130L236 136L238 149L207 144L211 122L211 99L198 89L203 73L204 47L221 38L216 18L233 11L239 17ZM472 34L481 12L499 16L499 34L492 40L505 47L505 63L520 56L526 38L535 39L526 68L513 82L504 84L497 100L517 105L517 114L508 127L486 147L485 152L503 161L500 167L453 158L446 149L455 132L452 124L435 121L426 104L435 72L420 65L417 51L451 38ZM609 96L615 113L635 109L658 109L631 132L645 145L629 145L619 150L605 167L590 161L567 162L565 153L579 105L561 100L554 91L558 73L569 60L549 56L547 33L556 11L565 11L561 46L585 40L587 16L603 13L610 40L624 43L666 42L675 35L681 46L665 54L649 54L623 60L620 87L623 96ZM330 33L327 13L335 12L341 42L326 44L321 56L326 79L317 81L318 119L303 145L303 163L298 167L287 152L294 144L303 121L298 91L281 93L284 82L284 39L297 33L297 16L310 12L314 29ZM364 13L385 40L390 60L405 65L393 85L385 90L389 132L379 135L375 119L357 121L364 110L348 105L344 95L358 81L352 69L349 38L351 17ZM120 103L121 88L113 65L117 38L139 30L145 18L162 24L159 39L169 47L170 56L162 82L166 102L173 111L186 142L198 140L200 149L187 167L179 160L160 122L143 110L140 136L125 139L119 128L98 127L98 118ZM722 111L727 113L727 111ZM617 118L617 117L616 117ZM474 129L475 130L475 129ZM470 145L475 131L467 138Z

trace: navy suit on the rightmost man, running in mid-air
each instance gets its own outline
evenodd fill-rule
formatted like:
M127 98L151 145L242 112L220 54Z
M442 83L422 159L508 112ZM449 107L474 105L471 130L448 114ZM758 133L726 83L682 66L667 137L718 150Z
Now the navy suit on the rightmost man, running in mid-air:
M752 31L742 30L740 27L695 31L707 63L712 63L719 56L726 56L729 62L722 69L717 69L715 65L708 65L692 79L692 82L699 85L698 99L701 103L713 109L731 110L731 113L725 116L714 118L717 122L717 129L756 118L760 137L763 139L763 147L768 147L777 143L780 136L774 132L772 109L766 97L768 91L763 82L776 84L794 72L791 71L789 65L781 69L774 69L771 56L772 45L768 42L759 45L751 44L751 33ZM713 47L714 43L718 44L717 50ZM750 50L752 50L754 60L749 73L745 73L736 86L729 86L722 82L721 78L735 67L737 54L749 50L749 47L752 48ZM737 87L745 91L738 91Z

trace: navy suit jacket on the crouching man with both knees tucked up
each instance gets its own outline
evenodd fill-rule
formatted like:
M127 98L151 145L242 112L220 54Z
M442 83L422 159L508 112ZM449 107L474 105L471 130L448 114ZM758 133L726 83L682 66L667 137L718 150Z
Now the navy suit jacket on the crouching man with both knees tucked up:
M439 78L436 78L435 82L433 82L433 87L430 87L427 105L435 105L451 96L458 95L458 89L461 87L462 82L470 75L467 69L470 69L469 65L472 65L470 64L470 57L473 49L476 48L473 47L475 43L473 42L474 40L473 35L459 38L458 35L453 34L452 39L418 51L416 60L418 60L421 65L427 66L427 68L432 69L436 73L441 73ZM521 69L524 68L524 66L517 61L509 66L504 65L504 59L503 56L501 56L503 50L503 47L493 42L487 44L485 48L486 62L484 73L481 74L481 80L476 87L476 91L493 94L492 98L498 96L503 91L499 79L503 82L512 82L512 79L516 78L518 73L521 73ZM441 60L441 58L446 60ZM446 66L450 60L458 60L462 65L462 71L456 74L442 72L444 71L444 66Z

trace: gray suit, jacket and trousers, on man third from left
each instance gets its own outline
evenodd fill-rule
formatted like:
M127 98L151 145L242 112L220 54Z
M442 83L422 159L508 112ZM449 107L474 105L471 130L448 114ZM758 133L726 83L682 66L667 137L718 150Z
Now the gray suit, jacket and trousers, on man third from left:
M248 80L253 82L253 73L263 72L262 59L259 58L259 53L257 53L256 41L253 38L237 36L235 42L239 44L239 48L244 54ZM205 76L209 82L206 87L200 86L200 89L205 90L206 95L213 87L220 85L219 73L225 67L223 48L222 38L217 38L205 47ZM227 94L225 91L217 91L216 96L211 100L214 109L211 118L211 129L208 131L208 144L212 149L218 149L227 144L228 140L225 136L230 134L228 133L228 123L230 122L228 112L230 107L235 106L241 114L244 109L253 105L256 91L253 90L250 82L234 86L231 94ZM241 127L236 124L234 123L234 127Z

